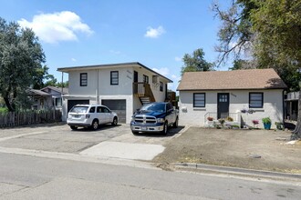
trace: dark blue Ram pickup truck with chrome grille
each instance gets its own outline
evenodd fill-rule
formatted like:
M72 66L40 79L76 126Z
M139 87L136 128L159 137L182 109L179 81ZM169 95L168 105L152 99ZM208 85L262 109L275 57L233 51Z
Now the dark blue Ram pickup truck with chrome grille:
M131 119L130 129L136 135L140 132L159 132L167 135L168 127L178 126L179 112L171 103L155 102L143 105Z

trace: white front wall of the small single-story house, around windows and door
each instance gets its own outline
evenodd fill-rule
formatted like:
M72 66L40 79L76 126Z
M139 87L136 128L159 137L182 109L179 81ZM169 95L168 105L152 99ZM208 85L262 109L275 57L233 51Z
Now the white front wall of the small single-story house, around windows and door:
M249 93L264 93L264 107L252 108L254 114L241 114L242 109L249 109ZM206 105L204 108L193 107L193 93L205 93ZM272 127L275 122L283 121L282 90L233 90L233 91L180 91L179 111L180 125L203 125L204 115L208 112L217 113L217 94L229 93L229 113L240 113L246 125L253 125L252 120L259 120L258 127L263 127L262 118L269 116Z

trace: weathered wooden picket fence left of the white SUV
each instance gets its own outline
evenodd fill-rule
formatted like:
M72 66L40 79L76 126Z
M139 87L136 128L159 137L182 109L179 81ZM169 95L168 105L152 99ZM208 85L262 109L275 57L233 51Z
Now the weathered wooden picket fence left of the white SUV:
M61 119L62 113L59 110L0 113L0 128L18 125L36 125L41 123L60 122Z

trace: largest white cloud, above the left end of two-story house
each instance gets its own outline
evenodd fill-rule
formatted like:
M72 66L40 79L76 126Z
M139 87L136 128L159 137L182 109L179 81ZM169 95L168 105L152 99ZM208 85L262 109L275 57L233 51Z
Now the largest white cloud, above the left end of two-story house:
M22 27L32 28L41 41L55 44L59 41L77 41L78 33L91 35L90 27L81 22L80 17L70 11L35 15L32 22L18 21Z

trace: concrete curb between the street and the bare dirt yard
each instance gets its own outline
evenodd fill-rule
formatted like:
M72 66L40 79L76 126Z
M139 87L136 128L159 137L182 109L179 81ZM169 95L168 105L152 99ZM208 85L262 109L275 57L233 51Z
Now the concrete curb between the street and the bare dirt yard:
M179 168L196 169L203 171L212 171L215 173L234 174L234 175L255 175L269 178L290 178L301 181L301 174L288 174L280 172L271 172L264 170L245 169L239 167L218 166L218 165L204 165L193 163L174 163L173 165Z

